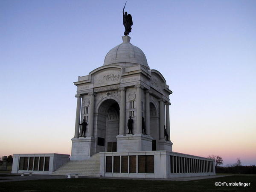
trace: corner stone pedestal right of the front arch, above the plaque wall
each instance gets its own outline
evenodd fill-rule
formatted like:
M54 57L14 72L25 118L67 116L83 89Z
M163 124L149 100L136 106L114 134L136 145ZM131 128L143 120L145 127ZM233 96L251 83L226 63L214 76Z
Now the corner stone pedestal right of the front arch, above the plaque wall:
M143 134L118 135L117 152L152 151L152 137Z

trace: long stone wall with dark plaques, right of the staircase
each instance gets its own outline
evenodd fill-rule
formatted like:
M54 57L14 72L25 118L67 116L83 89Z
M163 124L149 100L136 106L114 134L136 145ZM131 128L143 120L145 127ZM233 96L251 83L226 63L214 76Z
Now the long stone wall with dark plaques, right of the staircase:
M112 152L100 153L100 175L134 178L207 176L215 175L215 166L214 160L176 152Z

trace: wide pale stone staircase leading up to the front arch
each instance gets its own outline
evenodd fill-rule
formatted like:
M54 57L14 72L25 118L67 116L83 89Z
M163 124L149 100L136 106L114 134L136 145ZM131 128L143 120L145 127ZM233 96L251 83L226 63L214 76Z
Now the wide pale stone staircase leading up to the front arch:
M68 161L55 170L52 175L66 175L67 173L79 173L79 176L99 177L99 154L94 154L88 160Z

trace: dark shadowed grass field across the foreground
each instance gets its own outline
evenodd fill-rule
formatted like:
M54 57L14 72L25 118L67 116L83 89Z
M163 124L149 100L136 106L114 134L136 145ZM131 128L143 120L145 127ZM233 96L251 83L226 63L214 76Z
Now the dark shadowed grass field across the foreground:
M250 186L215 186L215 182L250 183ZM0 183L3 192L255 192L255 175L233 175L192 181L121 180L121 179L53 179Z

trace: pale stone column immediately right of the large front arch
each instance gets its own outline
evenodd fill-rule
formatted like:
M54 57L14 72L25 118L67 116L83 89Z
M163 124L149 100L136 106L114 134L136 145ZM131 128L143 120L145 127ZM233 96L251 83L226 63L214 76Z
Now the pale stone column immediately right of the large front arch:
M125 87L121 87L119 88L119 90L121 90L119 135L124 135L125 134Z

